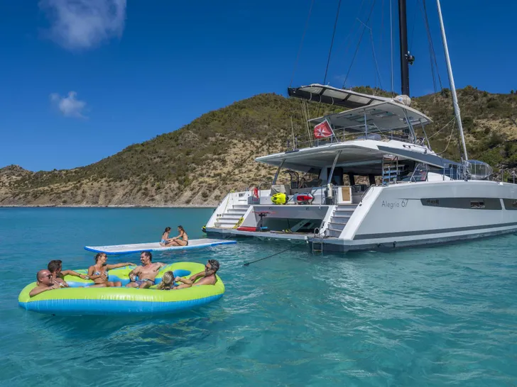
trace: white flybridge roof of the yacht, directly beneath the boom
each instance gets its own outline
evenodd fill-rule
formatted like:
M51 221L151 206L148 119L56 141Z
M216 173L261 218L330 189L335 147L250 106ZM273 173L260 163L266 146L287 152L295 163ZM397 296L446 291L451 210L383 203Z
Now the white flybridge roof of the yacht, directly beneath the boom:
M334 130L344 130L348 133L364 132L364 118L368 132L386 132L392 130L406 130L408 121L411 125L428 125L432 120L413 108L402 105L396 101L375 101L371 105L330 116L318 117L309 120L310 123L321 123L327 119Z

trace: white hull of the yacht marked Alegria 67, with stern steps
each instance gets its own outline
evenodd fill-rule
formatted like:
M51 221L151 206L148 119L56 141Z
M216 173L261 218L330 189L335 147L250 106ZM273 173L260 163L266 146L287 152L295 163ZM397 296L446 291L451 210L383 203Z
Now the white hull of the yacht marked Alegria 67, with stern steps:
M239 194L233 195L238 201ZM241 203L244 200L247 203L247 196L251 193L240 195ZM268 191L263 191L263 198L268 195ZM222 212L224 206L232 206L227 203L230 200L227 196L214 212L207 224L210 234L225 237L246 235L246 232L236 232L231 227L222 229L215 226L217 214ZM289 218L293 223L293 220L302 219L304 213L311 213L312 218L320 217L319 220L312 220L322 224L322 233L325 232L327 237L314 238L313 234L307 233L305 236L286 234L282 235L283 239L305 238L317 245L322 242L324 250L340 252L437 245L517 230L517 185L496 181L423 181L371 186L361 203L352 209L347 209L348 206L317 204L265 206L267 202L263 200L261 203L261 206L248 206L241 225L258 225L256 211L271 211L267 219L272 225L276 219ZM315 207L318 211L308 211L307 207ZM336 221L332 220L332 216L336 211L349 211L351 214L339 231L331 230L332 222ZM250 232L249 236L278 239L278 235L271 230Z

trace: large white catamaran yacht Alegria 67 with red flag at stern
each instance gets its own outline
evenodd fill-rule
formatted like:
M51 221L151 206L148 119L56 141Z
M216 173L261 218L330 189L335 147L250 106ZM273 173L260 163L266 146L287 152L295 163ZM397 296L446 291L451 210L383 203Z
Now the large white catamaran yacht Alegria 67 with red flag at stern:
M443 26L442 38L462 135ZM425 135L431 119L409 106L408 57L401 57L406 73L396 98L322 84L288 89L290 97L349 110L309 120L314 138L306 146L293 141L285 152L258 157L277 167L271 189L229 193L208 220L207 234L300 240L312 249L349 252L515 232L516 184L492 181L488 164L469 160L463 135L461 162L431 149ZM289 183L279 184L279 176L289 176Z

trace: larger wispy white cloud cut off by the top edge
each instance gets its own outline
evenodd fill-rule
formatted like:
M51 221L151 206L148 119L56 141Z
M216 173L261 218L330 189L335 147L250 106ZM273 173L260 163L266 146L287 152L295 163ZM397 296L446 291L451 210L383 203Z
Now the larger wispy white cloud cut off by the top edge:
M41 0L39 6L48 12L50 38L69 50L87 50L124 31L126 0Z

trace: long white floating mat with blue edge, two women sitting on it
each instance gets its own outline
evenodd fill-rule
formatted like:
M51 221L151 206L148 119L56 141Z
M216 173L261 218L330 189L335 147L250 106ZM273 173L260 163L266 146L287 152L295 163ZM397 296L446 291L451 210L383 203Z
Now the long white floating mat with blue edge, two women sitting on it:
M135 243L133 245L114 245L114 246L85 246L85 250L89 252L104 252L106 254L129 254L132 252L161 252L169 250L183 249L202 249L204 247L212 247L217 245L233 245L235 240L218 240L218 239L191 239L188 240L188 246L170 246L163 247L159 242Z

